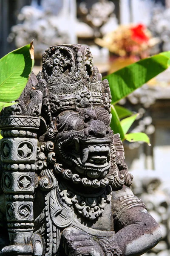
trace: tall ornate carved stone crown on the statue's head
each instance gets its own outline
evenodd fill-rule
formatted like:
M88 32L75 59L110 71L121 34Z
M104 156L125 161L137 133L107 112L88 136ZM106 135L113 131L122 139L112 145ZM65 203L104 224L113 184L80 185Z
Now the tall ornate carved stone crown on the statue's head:
M106 79L102 81L89 47L57 45L46 49L37 79L37 89L43 93L42 103L50 116L92 106L110 111L109 84Z

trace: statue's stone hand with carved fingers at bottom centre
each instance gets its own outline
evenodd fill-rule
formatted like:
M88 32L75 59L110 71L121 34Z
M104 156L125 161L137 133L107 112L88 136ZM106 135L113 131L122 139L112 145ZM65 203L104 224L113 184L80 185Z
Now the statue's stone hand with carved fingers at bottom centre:
M102 248L87 233L70 227L62 233L63 247L68 256L104 256Z

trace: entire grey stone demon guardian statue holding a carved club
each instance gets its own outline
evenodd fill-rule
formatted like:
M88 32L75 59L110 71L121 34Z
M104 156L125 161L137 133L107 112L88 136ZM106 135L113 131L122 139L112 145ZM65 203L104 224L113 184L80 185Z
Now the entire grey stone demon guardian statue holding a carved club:
M155 246L160 227L130 190L109 84L89 48L47 49L17 102L0 116L0 255L139 256Z

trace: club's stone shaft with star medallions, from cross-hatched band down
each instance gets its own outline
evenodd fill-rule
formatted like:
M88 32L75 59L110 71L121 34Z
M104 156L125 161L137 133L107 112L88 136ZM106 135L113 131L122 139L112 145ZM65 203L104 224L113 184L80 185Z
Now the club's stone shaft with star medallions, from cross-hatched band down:
M22 118L23 125L28 119ZM11 122L20 124L21 117L8 117L5 129L2 129L3 139L0 141L1 161L3 167L2 189L6 193L6 219L8 222L9 239L12 244L30 243L33 232L33 193L35 187L35 160L37 151L34 125L11 129ZM33 119L36 124L37 119ZM8 126L9 125L9 126ZM27 241L27 242L26 242Z

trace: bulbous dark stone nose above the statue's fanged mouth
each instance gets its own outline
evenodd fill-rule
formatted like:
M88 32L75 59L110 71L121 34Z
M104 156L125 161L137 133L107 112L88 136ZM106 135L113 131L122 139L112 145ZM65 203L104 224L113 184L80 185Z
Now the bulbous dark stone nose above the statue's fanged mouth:
M103 138L106 135L106 126L103 122L99 120L91 121L90 126L88 127L88 135L96 137L96 138Z

